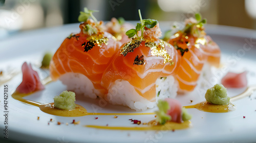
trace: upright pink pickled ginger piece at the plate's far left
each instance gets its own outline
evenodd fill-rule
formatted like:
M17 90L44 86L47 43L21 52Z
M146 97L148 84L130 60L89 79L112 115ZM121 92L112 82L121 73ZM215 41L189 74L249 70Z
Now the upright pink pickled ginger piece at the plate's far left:
M31 64L23 63L22 75L22 83L16 89L19 93L31 93L36 90L45 89L44 85L40 82L37 72L32 69Z

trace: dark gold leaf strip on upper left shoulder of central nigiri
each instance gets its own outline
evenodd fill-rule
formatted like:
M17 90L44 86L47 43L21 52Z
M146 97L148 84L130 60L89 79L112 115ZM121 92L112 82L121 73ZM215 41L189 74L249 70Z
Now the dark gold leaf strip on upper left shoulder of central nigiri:
M133 39L131 42L126 43L122 49L121 54L125 57L129 52L133 52L134 49L139 47L140 43L144 40L144 38L136 38Z

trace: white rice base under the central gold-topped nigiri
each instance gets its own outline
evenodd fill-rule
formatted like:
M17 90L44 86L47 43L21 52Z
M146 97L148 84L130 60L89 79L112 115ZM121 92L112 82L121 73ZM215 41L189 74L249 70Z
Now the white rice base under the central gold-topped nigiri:
M134 87L125 80L116 80L110 86L107 97L111 104L128 106L136 111L144 111L147 108L155 107L158 99L175 98L177 96L178 88L173 76L157 79L156 86L156 102L150 102L141 97Z

